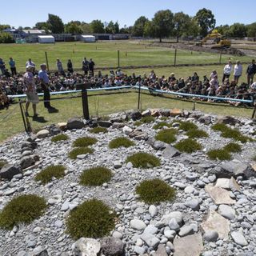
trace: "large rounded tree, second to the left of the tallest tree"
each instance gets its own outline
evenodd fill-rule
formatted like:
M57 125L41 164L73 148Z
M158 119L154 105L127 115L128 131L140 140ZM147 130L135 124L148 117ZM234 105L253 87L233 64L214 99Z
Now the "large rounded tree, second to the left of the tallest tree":
M154 25L154 34L159 41L162 42L162 38L170 36L174 29L174 14L170 10L159 10L154 14L152 19Z

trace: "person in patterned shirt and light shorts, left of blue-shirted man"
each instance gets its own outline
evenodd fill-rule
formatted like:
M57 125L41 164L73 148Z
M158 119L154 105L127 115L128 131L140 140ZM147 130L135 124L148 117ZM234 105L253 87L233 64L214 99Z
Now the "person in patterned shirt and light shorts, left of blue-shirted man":
M38 94L36 92L35 82L34 82L34 74L32 71L34 70L34 66L26 66L26 73L23 76L24 86L26 87L26 116L29 116L28 109L30 106L30 102L32 103L32 108L34 115L36 118L37 114L37 104L39 102Z

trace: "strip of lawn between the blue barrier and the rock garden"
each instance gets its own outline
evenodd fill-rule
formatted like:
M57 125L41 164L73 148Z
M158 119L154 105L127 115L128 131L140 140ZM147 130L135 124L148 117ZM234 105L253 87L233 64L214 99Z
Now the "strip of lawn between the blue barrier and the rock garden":
M138 106L138 94L134 92L134 90L127 90L126 93L122 94L116 94L115 92L113 92L113 94L102 95L95 93L89 94L90 115L93 116L102 116L118 111L136 109ZM70 95L66 95L66 97L70 97ZM59 97L55 96L52 98ZM66 122L66 120L70 117L82 116L81 98L64 98L53 100L51 105L56 107L59 112L49 114L43 107L42 102L38 104L38 114L40 115L40 119L38 121L33 121L32 118L29 118L33 130L37 130L39 127L52 123ZM178 108L191 110L193 108L193 102L182 101L176 98L163 98L155 97L150 94L142 94L142 109L148 108ZM235 108L228 105L213 105L206 102L197 102L196 110L202 110L206 113L230 114L247 118L250 118L252 114L251 109ZM32 114L31 109L30 114ZM24 131L22 115L18 104L11 105L8 110L0 110L0 122L0 142L3 142L6 140L6 138L10 138L14 134Z

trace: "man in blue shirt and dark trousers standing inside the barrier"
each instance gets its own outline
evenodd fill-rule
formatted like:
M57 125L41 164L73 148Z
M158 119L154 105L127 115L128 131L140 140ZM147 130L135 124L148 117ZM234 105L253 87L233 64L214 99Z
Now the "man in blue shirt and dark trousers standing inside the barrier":
M38 78L41 82L41 87L43 90L43 102L44 102L44 106L49 110L52 108L52 106L50 106L50 90L49 90L49 77L48 74L46 72L46 64L43 63L41 64L41 70L38 72Z

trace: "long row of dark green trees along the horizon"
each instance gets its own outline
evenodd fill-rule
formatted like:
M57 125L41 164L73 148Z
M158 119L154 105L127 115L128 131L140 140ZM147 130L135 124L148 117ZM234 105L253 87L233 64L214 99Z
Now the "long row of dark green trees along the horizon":
M234 23L233 25L217 26L214 14L211 10L203 8L198 10L194 17L183 12L173 13L171 10L159 10L151 20L145 16L139 17L134 26L119 27L118 22L102 22L99 19L90 23L71 21L66 24L62 18L54 14L48 14L46 22L37 22L33 28L19 27L19 29L46 30L53 34L131 34L140 38L162 38L176 37L205 37L211 30L217 29L220 34L229 38L256 37L256 22L249 25ZM0 31L10 28L10 25L0 25ZM6 38L7 37L7 38ZM10 38L9 38L10 39ZM0 42L8 41L8 36L0 33Z

